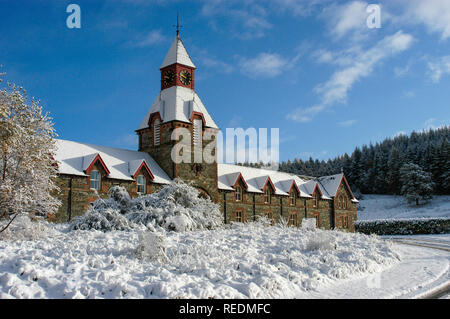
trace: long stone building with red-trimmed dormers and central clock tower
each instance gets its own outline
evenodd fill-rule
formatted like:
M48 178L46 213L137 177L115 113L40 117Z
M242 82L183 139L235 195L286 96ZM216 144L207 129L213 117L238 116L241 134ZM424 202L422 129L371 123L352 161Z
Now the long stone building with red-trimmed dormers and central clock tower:
M217 163L219 128L195 91L195 70L177 34L160 66L161 91L136 130L138 151L57 140L63 205L52 218L67 221L83 214L114 185L135 197L180 178L218 203L226 223L266 216L299 226L302 219L315 218L320 228L354 231L358 201L342 173L314 178ZM214 160L199 160L196 150L208 151ZM174 154L184 160L172 160Z

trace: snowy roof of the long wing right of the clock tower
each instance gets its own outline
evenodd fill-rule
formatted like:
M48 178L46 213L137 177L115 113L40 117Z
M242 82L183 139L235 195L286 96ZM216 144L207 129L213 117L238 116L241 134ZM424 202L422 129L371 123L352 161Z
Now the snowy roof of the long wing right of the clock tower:
M304 188L301 187L306 181L297 175L272 171L268 169L253 168L232 164L218 164L219 189L234 190L233 185L240 174L247 183L247 192L263 193L263 188L269 178L275 187L276 195L289 195L292 183L295 182L300 190L301 197L311 197Z

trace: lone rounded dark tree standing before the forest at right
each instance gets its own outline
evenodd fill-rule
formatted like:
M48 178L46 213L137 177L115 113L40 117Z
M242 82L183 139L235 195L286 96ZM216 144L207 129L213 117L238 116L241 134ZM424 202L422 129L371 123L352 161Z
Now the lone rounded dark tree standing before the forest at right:
M402 182L401 193L408 202L416 202L419 199L428 200L432 198L434 183L431 174L425 172L419 165L407 163L400 169L400 180Z

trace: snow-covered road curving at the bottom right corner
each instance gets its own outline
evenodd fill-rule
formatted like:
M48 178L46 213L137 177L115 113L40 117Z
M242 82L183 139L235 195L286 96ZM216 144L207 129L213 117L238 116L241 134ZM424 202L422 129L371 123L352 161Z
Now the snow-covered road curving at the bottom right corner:
M413 236L409 236L413 237ZM414 236L415 237L415 236ZM421 237L421 236L417 236ZM448 243L450 236L437 239ZM408 244L399 245L402 262L370 276L349 280L334 286L321 287L299 298L427 298L446 297L450 286L448 250L425 248L421 238L403 238ZM425 238L427 244L436 238Z

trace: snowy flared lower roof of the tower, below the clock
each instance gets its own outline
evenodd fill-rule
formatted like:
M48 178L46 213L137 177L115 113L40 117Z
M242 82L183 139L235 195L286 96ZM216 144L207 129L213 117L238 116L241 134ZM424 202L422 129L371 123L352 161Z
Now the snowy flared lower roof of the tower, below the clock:
M155 112L159 112L163 123L175 120L190 123L193 112L202 113L205 118L205 126L218 129L197 93L183 86L172 86L161 91L139 125L138 130L148 127L150 115Z

